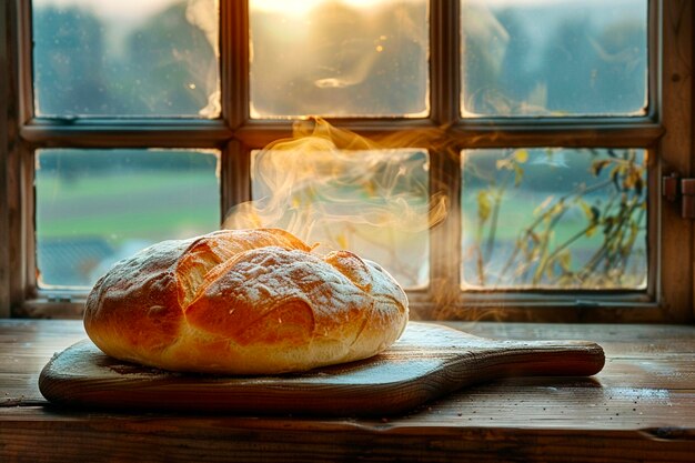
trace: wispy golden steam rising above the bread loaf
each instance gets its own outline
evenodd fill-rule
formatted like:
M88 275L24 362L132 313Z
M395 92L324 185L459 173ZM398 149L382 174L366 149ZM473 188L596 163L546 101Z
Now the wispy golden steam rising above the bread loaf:
M223 228L279 227L303 240L339 222L426 231L445 218L447 208L446 195L433 192L427 182L429 160L413 157L427 152L431 135L410 132L397 141L376 141L322 119L299 121L292 138L253 157L252 178L268 194L232 208ZM416 172L423 168L425 174ZM340 194L355 187L360 194Z

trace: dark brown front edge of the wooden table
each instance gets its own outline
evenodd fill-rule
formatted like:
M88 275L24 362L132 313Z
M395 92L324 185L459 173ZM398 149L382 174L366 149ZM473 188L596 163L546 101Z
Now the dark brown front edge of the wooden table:
M89 462L687 462L693 442L658 431L417 426L234 417L3 415L3 461ZM118 426L118 429L117 429ZM653 439L648 439L653 437ZM40 442L40 445L37 443ZM27 452L31 449L31 452ZM22 453L24 452L24 453ZM29 460L31 456L34 460ZM22 459L23 457L23 459ZM37 459L38 457L38 459Z

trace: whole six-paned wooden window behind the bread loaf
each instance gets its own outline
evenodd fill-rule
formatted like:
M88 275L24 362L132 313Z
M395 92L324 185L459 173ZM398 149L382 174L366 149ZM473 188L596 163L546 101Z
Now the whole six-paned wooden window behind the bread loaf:
M263 224L380 261L415 318L692 319L661 197L692 173L689 2L124 1L0 17L12 314Z

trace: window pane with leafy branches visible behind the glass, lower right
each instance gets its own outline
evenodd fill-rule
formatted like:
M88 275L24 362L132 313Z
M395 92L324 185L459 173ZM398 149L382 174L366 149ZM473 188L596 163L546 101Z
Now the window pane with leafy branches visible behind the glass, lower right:
M464 151L464 289L645 289L646 157Z

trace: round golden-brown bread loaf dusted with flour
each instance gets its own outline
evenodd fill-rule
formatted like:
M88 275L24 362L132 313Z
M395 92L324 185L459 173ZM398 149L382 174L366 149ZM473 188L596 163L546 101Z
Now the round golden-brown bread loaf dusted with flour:
M324 256L278 229L164 241L117 263L87 299L89 338L164 370L274 374L372 356L401 335L405 293L377 264Z

